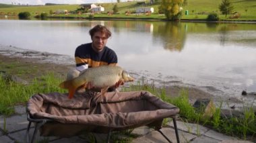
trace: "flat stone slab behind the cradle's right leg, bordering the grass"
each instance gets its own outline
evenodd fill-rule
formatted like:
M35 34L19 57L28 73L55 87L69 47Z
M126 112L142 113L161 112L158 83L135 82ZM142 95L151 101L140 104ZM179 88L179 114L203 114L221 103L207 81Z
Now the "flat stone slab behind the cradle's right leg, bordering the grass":
M173 122L168 122L168 126L171 126L174 128ZM190 123L181 122L181 121L177 121L177 128L185 132L196 134L197 136L201 136L202 134L205 134L205 132L210 130L199 124L190 124Z

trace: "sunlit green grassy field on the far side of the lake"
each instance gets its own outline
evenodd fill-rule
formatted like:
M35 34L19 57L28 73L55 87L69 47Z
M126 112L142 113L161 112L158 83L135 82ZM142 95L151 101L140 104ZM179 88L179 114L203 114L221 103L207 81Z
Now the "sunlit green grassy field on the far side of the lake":
M238 19L229 19L229 15L225 17L218 9L218 5L222 0L188 0L188 5L183 6L182 19L205 19L209 13L220 13L220 19L222 20L256 20L256 1L255 0L230 0L234 6L234 12L241 14ZM105 8L104 13L96 14L94 17L112 17L112 18L144 18L144 19L164 19L163 15L158 14L158 6L160 3L150 5L146 2L145 6L138 5L136 1L117 3L119 8L119 14L107 15L107 11L112 11L115 3L102 3ZM135 11L137 7L154 7L154 13L152 15L125 15L125 11ZM45 5L45 6L18 6L18 5L3 5L0 4L0 15L16 16L20 12L28 11L33 16L38 13L49 13L57 10L75 11L79 8L79 5ZM185 15L185 11L189 11L189 15ZM67 17L67 15L55 15L61 17ZM88 17L86 14L77 15L70 14L68 17Z

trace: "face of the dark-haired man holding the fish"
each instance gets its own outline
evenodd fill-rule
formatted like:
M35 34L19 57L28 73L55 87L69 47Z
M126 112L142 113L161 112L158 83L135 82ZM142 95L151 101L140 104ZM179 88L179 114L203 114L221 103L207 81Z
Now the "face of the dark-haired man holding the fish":
M106 38L106 34L102 32L96 32L94 36L92 36L92 48L96 52L100 52L103 50L106 45L108 38Z

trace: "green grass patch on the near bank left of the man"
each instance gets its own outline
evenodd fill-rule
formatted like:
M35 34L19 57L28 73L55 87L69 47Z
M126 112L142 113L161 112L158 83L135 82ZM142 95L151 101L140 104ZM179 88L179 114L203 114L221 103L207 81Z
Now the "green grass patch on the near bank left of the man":
M67 92L58 87L59 83L61 83L61 78L53 73L34 79L29 85L15 83L0 76L0 114L13 114L15 105L25 104L36 93Z

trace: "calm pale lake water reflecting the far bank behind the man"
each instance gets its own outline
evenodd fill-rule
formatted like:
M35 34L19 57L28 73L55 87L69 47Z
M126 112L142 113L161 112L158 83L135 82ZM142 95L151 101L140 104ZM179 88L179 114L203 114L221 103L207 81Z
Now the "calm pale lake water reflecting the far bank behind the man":
M79 44L91 42L88 30L98 23L113 32L107 46L119 65L137 78L236 97L256 91L253 23L0 20L0 44L73 57Z

